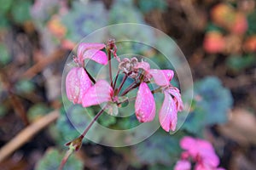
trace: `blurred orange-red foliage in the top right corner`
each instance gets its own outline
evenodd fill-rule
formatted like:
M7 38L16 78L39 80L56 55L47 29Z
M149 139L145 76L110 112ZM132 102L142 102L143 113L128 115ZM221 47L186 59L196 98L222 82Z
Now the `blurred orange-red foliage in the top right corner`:
M209 54L227 54L227 66L234 71L241 71L256 63L255 9L243 10L238 7L230 3L213 6L212 20L203 44Z

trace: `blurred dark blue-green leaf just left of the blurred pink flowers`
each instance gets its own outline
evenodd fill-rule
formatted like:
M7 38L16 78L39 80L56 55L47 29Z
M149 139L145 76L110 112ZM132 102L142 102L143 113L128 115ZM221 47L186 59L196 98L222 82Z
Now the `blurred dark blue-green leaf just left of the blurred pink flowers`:
M156 163L172 165L180 155L177 136L166 133L154 133L153 136L133 147L135 155L143 164Z

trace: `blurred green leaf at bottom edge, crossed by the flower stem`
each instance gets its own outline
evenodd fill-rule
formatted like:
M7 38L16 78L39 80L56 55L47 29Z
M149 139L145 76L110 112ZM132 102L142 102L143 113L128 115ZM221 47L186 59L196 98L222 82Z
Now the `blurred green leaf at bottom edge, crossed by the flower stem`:
M61 159L65 154L59 152L56 149L48 149L44 157L38 161L36 170L56 170L61 164ZM83 162L75 158L75 156L70 156L67 160L67 163L64 170L82 170L84 167Z

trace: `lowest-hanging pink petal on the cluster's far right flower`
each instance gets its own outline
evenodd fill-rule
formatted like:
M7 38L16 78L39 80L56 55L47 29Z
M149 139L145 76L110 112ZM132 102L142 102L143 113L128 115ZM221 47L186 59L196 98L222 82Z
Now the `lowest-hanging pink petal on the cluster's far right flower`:
M168 93L165 93L165 99L160 108L159 121L161 127L166 132L169 132L170 130L175 131L177 124L177 110L172 96Z

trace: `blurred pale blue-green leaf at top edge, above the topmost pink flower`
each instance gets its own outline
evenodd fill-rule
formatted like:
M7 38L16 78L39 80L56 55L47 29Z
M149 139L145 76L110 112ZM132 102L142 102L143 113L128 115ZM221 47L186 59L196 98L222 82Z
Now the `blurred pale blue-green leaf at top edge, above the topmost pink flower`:
M79 42L82 38L108 25L108 13L102 2L82 3L73 1L72 8L62 16L61 22L67 28L67 39ZM94 41L102 42L104 36L97 34ZM105 39L104 39L105 41Z

